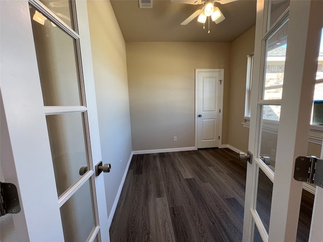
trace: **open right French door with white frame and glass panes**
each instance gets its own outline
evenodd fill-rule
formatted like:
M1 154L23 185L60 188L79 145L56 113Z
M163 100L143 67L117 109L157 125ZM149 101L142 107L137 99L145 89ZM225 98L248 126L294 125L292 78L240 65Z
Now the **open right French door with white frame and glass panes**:
M243 241L296 240L322 23L323 1L257 1Z

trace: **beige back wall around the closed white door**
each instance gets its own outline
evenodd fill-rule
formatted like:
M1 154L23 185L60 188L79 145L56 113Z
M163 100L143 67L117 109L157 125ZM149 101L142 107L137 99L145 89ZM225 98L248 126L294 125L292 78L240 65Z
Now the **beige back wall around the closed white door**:
M227 144L231 43L127 42L126 49L134 151L195 146L198 68L224 69Z

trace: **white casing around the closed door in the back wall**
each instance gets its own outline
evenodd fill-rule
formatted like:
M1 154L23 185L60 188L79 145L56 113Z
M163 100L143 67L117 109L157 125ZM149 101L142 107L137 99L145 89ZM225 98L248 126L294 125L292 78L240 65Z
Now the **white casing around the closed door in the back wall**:
M197 150L197 116L198 116L198 73L199 72L221 72L221 80L222 83L220 85L220 97L218 97L219 105L220 105L220 117L219 117L219 148L221 148L222 145L222 118L223 118L223 87L224 87L224 69L195 69L195 150Z

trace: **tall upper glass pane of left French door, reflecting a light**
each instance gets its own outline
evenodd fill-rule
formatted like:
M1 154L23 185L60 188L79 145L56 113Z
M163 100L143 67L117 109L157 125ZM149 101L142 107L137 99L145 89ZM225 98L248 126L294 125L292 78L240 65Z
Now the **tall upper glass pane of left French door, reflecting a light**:
M30 15L44 105L82 105L76 40L33 7Z

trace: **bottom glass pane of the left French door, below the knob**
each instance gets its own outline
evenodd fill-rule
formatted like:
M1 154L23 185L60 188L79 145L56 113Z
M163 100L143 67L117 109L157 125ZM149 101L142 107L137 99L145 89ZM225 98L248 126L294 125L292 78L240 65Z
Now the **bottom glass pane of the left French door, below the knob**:
M61 218L65 241L86 241L95 226L89 180L61 207Z

